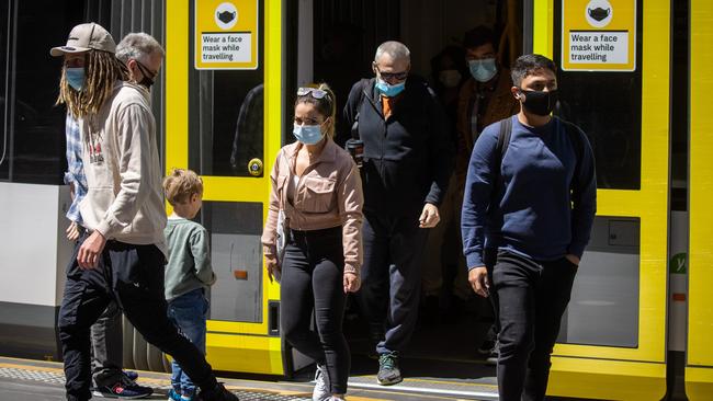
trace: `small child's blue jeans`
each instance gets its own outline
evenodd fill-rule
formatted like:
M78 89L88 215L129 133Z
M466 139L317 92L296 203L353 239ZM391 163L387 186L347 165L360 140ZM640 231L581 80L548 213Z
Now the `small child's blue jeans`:
M203 288L185 293L168 302L169 320L203 354L205 354L205 320L207 311L208 301L203 295ZM171 370L173 371L171 375L173 390L183 396L195 396L195 385L176 360L171 363Z

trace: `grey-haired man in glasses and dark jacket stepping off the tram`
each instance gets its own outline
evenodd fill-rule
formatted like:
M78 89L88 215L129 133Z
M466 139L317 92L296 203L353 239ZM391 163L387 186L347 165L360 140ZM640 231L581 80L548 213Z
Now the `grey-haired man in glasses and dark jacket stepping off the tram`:
M343 137L363 141L364 267L359 302L377 343L381 385L401 381L399 353L415 329L422 251L453 171L453 144L433 91L410 76L399 42L376 49L375 78L356 82Z

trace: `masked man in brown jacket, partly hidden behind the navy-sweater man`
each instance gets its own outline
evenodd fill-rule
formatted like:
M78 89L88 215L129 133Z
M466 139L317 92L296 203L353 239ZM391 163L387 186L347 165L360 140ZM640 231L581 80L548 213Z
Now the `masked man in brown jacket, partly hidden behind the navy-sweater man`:
M456 185L459 187L459 204L461 210L463 185L473 151L473 144L483 128L502 118L517 114L520 103L512 98L510 88L510 70L497 61L498 48L494 32L486 26L477 26L463 35L465 61L471 71L471 78L461 88L457 107L457 157L455 162ZM459 298L472 297L465 270L459 270L455 294ZM497 324L490 325L477 352L482 356L497 357Z

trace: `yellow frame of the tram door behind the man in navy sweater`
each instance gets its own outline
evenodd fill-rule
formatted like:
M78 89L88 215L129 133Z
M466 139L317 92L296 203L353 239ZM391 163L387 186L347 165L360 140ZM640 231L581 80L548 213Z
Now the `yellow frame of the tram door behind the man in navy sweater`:
M551 58L561 26L555 1L563 0L534 0L533 10L534 53ZM597 191L598 215L641 219L638 346L557 344L550 394L658 400L666 393L670 1L642 3L641 190Z

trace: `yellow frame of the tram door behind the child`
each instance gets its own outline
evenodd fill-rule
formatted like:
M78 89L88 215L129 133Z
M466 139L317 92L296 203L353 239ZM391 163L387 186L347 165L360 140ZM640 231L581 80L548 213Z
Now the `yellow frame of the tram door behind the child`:
M189 164L190 4L166 1L166 168ZM197 0L200 1L200 0ZM264 0L264 171L262 177L203 175L204 200L253 202L268 214L270 171L281 147L282 133L282 1ZM168 171L167 171L168 172ZM283 375L281 339L269 336L268 300L280 299L280 288L262 277L262 322L208 321L207 358L215 369Z

